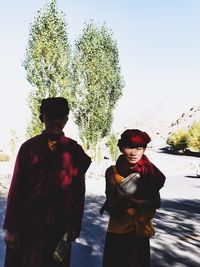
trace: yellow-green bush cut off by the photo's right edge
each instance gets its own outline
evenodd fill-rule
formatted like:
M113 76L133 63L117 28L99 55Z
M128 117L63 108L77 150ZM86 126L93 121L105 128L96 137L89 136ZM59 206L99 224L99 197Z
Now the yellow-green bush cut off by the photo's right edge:
M193 123L188 131L188 147L200 151L200 122Z

